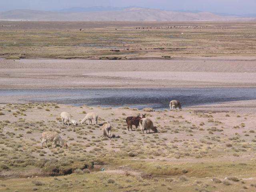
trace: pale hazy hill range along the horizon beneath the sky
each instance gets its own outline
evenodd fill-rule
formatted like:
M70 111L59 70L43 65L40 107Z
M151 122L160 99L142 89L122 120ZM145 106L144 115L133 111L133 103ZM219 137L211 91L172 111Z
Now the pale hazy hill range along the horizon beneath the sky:
M0 20L28 21L230 21L253 20L242 16L223 16L209 12L175 12L149 8L104 10L102 7L73 8L58 12L10 10L0 12ZM98 11L95 11L98 10ZM254 18L255 19L255 18Z

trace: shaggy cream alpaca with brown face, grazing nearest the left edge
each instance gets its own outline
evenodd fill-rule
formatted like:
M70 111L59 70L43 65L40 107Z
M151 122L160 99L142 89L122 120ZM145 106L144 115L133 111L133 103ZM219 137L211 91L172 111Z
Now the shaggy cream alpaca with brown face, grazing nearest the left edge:
M43 144L46 144L47 146L47 142L51 141L52 142L52 148L54 148L54 144L55 147L57 147L57 142L58 144L60 144L61 146L66 146L66 148L68 147L67 142L64 140L62 140L62 138L60 137L60 135L57 132L52 132L52 131L48 131L48 132L43 132L42 133L42 148L43 148Z

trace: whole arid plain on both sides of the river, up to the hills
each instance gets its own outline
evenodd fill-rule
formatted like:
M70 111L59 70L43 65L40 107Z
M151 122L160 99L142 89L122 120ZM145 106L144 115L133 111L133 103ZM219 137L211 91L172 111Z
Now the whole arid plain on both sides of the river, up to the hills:
M0 26L1 89L256 86L254 22ZM0 96L1 191L256 190L255 100L169 111L19 99ZM97 112L99 125L64 126L62 111L76 120ZM126 116L142 113L157 133L128 131ZM111 140L102 138L105 122ZM44 131L68 148L41 149Z

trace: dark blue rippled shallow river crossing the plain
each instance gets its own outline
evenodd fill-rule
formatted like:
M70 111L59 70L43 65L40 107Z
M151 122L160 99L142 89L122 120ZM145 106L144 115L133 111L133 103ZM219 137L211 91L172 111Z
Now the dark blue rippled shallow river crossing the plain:
M256 99L256 88L12 89L0 90L0 95L33 97L26 102L164 109L172 99L183 107Z

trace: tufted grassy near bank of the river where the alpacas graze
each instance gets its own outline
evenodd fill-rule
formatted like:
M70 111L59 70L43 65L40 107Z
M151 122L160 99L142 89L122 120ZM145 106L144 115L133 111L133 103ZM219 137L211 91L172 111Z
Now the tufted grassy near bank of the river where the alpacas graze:
M63 126L60 113L110 122ZM158 133L128 132L125 118L146 113ZM154 111L52 103L0 106L0 191L254 191L256 114ZM41 149L42 132L58 132L68 148Z

